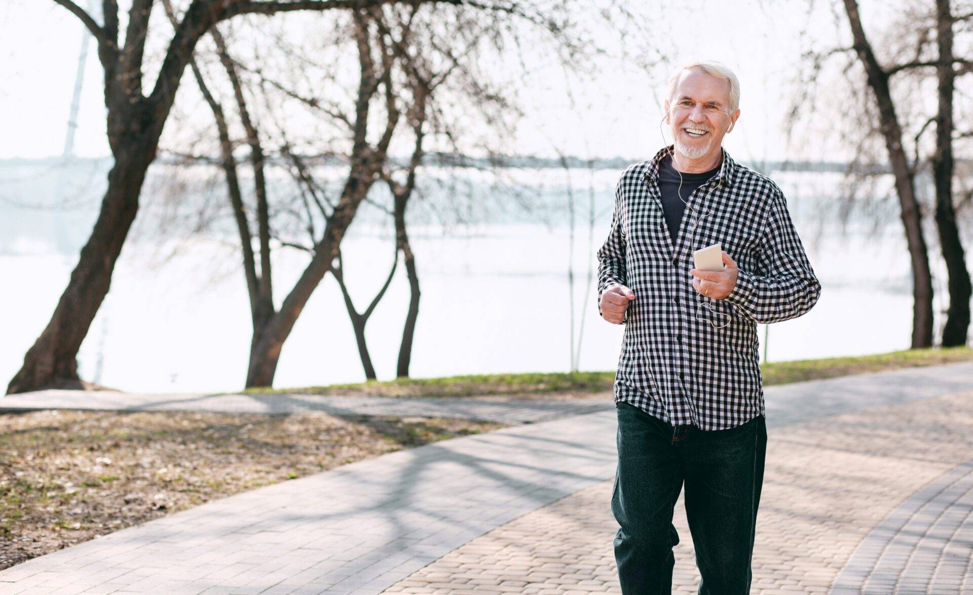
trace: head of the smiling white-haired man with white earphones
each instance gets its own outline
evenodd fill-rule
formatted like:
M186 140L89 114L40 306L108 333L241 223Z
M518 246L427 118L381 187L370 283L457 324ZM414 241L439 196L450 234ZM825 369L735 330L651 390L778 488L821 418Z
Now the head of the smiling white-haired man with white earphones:
M739 118L730 112L730 82L699 68L684 70L675 93L666 101L667 122L681 154L682 165L692 171L709 169L719 161L723 136Z

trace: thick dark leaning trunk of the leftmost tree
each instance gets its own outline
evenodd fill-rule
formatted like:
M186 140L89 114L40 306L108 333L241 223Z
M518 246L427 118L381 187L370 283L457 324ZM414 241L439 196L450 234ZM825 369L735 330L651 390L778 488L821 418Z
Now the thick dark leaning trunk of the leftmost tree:
M116 3L105 3L103 27L85 23L98 40L98 57L104 68L108 143L115 165L108 174L108 190L101 200L98 219L71 279L51 321L27 351L23 366L7 387L8 394L55 387L91 388L78 377L78 350L108 294L115 262L138 213L139 193L149 165L156 158L162 127L186 64L199 36L219 18L226 17L214 11L213 6L194 2L177 27L156 87L149 97L144 97L141 61L151 4L132 4L126 47L121 52L116 39Z

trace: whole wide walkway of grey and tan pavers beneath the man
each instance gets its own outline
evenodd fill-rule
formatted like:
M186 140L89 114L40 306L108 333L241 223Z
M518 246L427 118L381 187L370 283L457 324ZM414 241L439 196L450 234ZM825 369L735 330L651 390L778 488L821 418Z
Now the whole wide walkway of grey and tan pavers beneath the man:
M973 593L973 364L766 393L754 593ZM607 404L210 502L0 571L0 593L617 593Z

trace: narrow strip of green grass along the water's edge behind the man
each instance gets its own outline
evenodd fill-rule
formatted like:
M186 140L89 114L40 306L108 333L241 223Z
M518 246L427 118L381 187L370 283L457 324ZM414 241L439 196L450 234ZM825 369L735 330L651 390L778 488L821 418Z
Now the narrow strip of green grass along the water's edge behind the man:
M785 384L834 378L883 369L935 366L973 361L970 347L930 347L908 349L867 356L797 360L761 364L764 384ZM440 378L396 378L370 380L351 384L330 384L302 388L254 388L243 391L250 395L367 395L373 397L472 397L483 395L543 396L551 393L575 393L590 397L592 393L610 391L614 371L530 372L523 374L467 374Z

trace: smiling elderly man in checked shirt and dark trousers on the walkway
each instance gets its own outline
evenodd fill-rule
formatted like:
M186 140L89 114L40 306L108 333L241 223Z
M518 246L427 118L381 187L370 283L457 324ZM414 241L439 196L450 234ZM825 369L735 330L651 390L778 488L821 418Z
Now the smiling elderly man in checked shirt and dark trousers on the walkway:
M767 447L756 323L808 312L821 286L780 189L732 159L739 82L694 62L669 81L674 139L619 180L598 250L598 312L625 324L611 507L624 593L669 593L683 482L699 592L750 589ZM723 269L693 252L719 243Z

